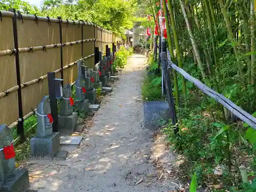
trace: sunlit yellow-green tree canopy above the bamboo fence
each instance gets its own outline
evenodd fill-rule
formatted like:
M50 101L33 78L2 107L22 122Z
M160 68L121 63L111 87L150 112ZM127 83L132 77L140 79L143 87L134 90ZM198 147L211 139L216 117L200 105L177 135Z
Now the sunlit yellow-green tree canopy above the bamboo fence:
M135 0L78 0L61 1L46 0L42 8L37 8L21 0L3 0L1 10L15 8L22 13L50 16L62 19L85 20L95 23L115 33L123 33L124 29L133 27L136 19L137 1Z

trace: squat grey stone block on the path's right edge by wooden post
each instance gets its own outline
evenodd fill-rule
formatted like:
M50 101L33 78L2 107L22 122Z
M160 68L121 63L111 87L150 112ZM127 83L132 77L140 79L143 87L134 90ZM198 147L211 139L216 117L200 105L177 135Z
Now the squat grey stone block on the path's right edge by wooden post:
M147 101L143 103L143 127L151 130L158 129L159 120L169 120L169 106L165 101Z

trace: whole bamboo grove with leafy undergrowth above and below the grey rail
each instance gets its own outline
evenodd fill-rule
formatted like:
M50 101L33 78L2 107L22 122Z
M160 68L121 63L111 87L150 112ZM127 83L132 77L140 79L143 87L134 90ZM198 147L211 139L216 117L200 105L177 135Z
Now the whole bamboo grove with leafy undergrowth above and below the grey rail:
M160 1L145 2L154 15L155 31L160 34ZM163 0L162 3L167 33L164 40L170 59L255 117L256 1ZM250 174L256 173L255 130L233 117L180 74L172 71L171 77L179 137L173 135L172 127L165 132L176 152L185 157L179 172L188 178L197 173L200 184L207 182L220 186L221 181L221 188L226 184L228 191L256 191L256 179L253 189L252 185L243 185L236 190L229 188L230 184L237 187L242 181L241 164ZM216 177L212 170L218 166L226 170L228 176Z

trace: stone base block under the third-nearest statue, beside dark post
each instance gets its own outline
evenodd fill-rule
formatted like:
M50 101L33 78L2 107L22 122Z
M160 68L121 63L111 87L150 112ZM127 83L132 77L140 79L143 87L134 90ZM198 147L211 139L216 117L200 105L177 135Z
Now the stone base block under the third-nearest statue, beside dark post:
M72 135L77 126L77 113L70 116L58 116L58 131L60 135Z

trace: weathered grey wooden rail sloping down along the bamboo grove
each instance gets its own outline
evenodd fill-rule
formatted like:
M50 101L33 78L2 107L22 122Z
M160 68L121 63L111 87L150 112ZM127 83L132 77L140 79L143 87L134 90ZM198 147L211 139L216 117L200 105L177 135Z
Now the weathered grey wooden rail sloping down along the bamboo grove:
M185 72L183 69L176 66L172 61L168 60L168 67L172 67L175 71L179 72L184 78L189 80L190 82L193 82L195 86L197 86L203 93L210 96L211 98L214 98L217 102L221 103L225 108L227 108L231 113L233 113L235 116L237 116L242 121L249 124L253 129L256 130L256 118L244 111L242 108L234 104L232 101L224 97L223 95L215 92L214 90L211 90L209 87L207 87L205 84L203 84L200 80L196 79L195 77L192 77L187 72Z

